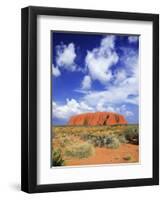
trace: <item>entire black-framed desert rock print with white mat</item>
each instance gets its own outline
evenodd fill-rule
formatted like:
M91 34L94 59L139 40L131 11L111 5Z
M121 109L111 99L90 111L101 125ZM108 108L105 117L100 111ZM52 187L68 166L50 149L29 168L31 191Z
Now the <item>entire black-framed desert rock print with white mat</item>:
M22 9L22 190L159 184L159 16Z

